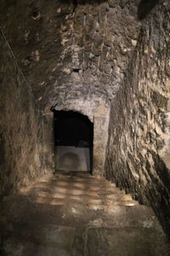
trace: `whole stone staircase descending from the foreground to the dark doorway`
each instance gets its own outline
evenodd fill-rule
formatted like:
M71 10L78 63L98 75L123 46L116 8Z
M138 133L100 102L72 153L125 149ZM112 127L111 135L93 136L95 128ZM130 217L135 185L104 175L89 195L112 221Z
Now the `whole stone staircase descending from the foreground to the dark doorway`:
M170 247L150 207L104 177L46 175L3 201L5 256L161 256Z

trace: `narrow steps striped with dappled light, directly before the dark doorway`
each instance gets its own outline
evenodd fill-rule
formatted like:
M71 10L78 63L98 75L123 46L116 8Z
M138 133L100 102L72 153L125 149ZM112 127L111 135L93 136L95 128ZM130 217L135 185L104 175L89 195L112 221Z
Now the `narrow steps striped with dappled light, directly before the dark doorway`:
M84 176L84 174L83 174ZM29 188L22 189L21 195L30 196L37 203L48 205L82 204L94 210L112 211L112 206L136 206L131 195L117 189L104 177L86 178L79 176L46 176ZM88 182L90 180L90 182Z

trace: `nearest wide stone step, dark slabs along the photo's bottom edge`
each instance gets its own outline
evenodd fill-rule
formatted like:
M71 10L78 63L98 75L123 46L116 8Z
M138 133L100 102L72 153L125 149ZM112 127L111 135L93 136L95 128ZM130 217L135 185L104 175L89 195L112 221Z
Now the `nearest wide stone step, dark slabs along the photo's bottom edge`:
M97 222L96 222L97 224ZM166 237L148 228L75 229L70 226L19 226L5 241L6 256L169 256ZM98 254L99 250L99 254Z

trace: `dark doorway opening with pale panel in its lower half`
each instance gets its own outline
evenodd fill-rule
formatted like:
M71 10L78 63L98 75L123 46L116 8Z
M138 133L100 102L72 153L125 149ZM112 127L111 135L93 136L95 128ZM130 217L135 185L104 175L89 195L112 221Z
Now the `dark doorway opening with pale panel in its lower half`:
M55 171L92 172L94 124L82 113L54 110Z

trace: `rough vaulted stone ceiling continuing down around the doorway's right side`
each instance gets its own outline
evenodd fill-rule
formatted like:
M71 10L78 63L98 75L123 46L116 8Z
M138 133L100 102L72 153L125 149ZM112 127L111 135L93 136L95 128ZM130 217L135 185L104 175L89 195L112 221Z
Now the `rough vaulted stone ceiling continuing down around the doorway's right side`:
M1 26L44 116L55 106L93 119L96 174L104 172L111 101L137 44L139 2L0 3Z

